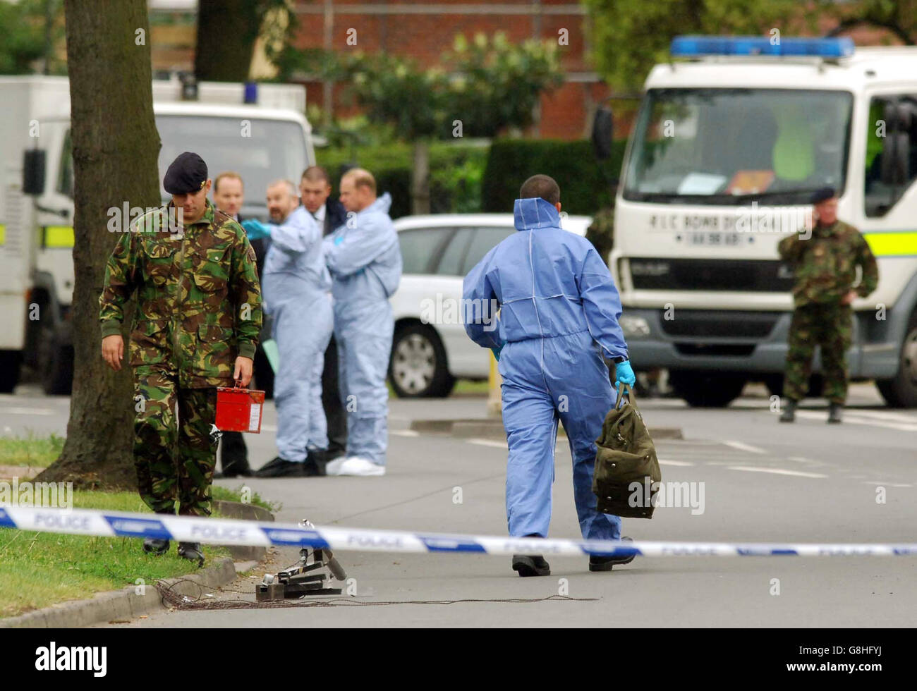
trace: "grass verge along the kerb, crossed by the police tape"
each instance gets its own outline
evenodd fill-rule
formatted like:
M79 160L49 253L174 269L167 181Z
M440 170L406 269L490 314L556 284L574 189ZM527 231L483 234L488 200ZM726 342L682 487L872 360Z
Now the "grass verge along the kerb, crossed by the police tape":
M149 513L134 492L76 490L73 506ZM175 543L169 554L159 557L144 554L140 544L137 538L0 530L0 617L91 598L96 592L136 587L138 578L150 588L160 578L197 570L179 557ZM206 567L229 552L225 547L207 546L204 554Z

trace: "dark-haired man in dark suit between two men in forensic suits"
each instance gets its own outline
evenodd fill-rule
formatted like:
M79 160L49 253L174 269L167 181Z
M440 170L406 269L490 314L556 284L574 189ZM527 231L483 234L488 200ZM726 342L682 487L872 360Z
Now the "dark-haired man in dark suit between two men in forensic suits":
M324 235L329 235L347 221L347 212L343 205L331 196L331 181L328 173L320 166L310 166L303 172L299 183L299 192L303 205L313 218L324 228ZM256 360L257 367L258 362ZM256 371L257 376L257 371ZM334 336L325 351L325 368L322 370L322 407L328 422L327 461L344 455L347 449L347 416L341 404L340 390L337 384L337 344Z

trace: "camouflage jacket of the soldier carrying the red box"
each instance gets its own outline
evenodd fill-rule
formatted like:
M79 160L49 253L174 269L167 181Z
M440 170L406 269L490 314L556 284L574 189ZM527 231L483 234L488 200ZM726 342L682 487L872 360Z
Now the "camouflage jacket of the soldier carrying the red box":
M136 290L131 367L178 373L179 385L231 386L236 356L254 357L261 328L255 252L242 226L208 201L197 223L171 234L169 209L131 224L105 268L102 337L121 333Z

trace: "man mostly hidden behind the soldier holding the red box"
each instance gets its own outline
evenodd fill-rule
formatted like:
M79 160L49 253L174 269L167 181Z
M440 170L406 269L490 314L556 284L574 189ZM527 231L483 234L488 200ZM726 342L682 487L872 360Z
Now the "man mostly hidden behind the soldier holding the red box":
M242 202L245 200L245 191L242 185L242 178L238 173L227 170L221 172L214 180L214 204L217 209L230 216L239 223L242 218L239 215L239 209L242 208ZM264 256L267 254L265 240L254 240L251 247L255 250L255 258L260 273L263 266ZM260 341L268 337L262 330ZM255 384L264 389L265 395L270 398L274 385L274 372L271 369L271 363L268 362L267 356L264 355L264 349L258 346L255 351L254 360ZM251 477L251 468L249 467L249 449L245 445L245 438L241 432L224 432L220 446L220 467L222 473L215 477Z

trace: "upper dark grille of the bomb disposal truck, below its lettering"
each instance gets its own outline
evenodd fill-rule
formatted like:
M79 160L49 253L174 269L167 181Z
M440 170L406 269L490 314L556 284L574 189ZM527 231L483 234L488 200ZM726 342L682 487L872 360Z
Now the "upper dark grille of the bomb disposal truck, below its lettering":
M777 259L628 259L634 288L647 291L789 292L793 277Z

